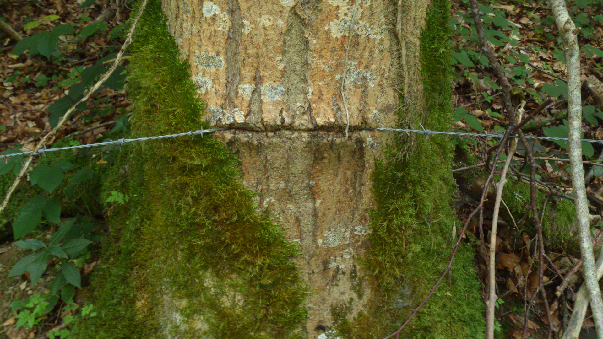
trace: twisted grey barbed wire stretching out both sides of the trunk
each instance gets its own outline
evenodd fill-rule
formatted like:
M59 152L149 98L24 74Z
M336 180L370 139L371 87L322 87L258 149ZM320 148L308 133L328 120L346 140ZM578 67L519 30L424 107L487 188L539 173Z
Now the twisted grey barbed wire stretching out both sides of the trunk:
M421 128L423 128L423 125L421 125ZM157 139L166 139L166 138L178 138L180 136L200 135L201 138L203 138L204 133L212 133L215 131L230 130L230 129L235 129L235 128L211 128L209 130L204 130L203 128L201 128L200 130L189 131L186 133L161 135L161 136L150 136L150 137L146 137L146 138L117 139L117 140L110 140L110 141L104 141L104 142L97 142L95 144L56 147L56 148L44 147L44 148L40 148L37 151L36 155L39 155L39 154L44 155L46 152L52 152L52 151L75 150L77 148L90 148L90 147L106 146L106 145L120 145L121 146L123 144L127 144L128 142L138 142L138 141L157 140ZM466 132L452 132L452 131L432 131L432 130L426 130L425 128L423 128L423 130L406 130L404 128L384 128L384 127L361 128L361 129L362 130L374 130L374 131L394 131L394 132L404 132L404 133L417 133L417 134L425 135L426 138L430 135L458 135L458 136L470 136L470 137L475 137L475 138L497 138L500 140L500 139L502 139L502 136L503 136L503 133L483 133L483 134L481 134L481 133L466 133ZM509 138L519 138L519 136L511 135L511 136L509 136ZM554 137L550 137L550 136L526 136L526 139L549 140L549 141L569 141L568 138L554 138ZM595 144L595 143L603 144L603 140L582 139L581 141L586 141L586 142L590 142L593 144ZM14 156L22 156L22 155L27 155L27 154L31 154L31 153L33 153L33 152L28 151L28 152L12 153L12 154L0 154L0 159L14 157Z

